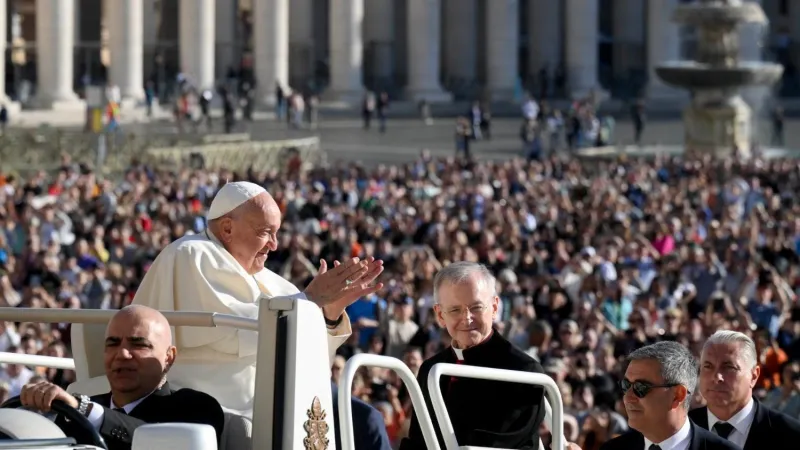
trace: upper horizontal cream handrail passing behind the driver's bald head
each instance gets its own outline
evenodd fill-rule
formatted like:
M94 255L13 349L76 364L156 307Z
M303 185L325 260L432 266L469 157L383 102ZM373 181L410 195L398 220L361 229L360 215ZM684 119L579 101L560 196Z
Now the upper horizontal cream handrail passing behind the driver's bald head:
M118 311L110 309L0 308L9 322L92 323L105 325ZM258 331L258 320L232 314L199 311L161 311L173 327L231 327Z

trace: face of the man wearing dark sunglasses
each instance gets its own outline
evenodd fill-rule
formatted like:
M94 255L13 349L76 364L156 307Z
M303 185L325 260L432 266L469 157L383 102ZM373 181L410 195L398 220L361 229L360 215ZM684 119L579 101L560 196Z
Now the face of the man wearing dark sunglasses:
M661 376L661 363L652 359L631 361L625 371L625 379L630 383L638 381L649 386L665 384ZM650 434L667 423L669 412L680 408L686 395L688 392L682 386L654 387L642 398L636 396L633 388L628 389L622 398L628 423L634 430Z

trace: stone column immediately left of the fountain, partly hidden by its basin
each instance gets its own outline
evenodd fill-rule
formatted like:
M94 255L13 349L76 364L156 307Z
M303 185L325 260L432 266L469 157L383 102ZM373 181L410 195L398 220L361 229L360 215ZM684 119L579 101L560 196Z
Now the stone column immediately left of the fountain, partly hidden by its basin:
M679 0L651 0L647 4L648 98L675 99L684 91L667 86L656 74L656 66L681 59L680 25L672 22Z

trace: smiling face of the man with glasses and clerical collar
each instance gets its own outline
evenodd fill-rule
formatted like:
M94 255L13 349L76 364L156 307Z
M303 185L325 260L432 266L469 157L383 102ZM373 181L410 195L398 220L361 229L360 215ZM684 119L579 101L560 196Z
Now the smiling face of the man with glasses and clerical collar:
M464 283L444 283L438 295L436 319L447 328L456 348L467 349L489 337L500 299L487 283L477 276Z

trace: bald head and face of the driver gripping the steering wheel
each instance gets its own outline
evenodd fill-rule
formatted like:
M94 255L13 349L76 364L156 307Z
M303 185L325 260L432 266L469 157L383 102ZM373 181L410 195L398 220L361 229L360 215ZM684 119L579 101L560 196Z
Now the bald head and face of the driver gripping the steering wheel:
M112 394L144 397L158 388L175 361L169 324L157 314L123 311L109 322L104 363Z

